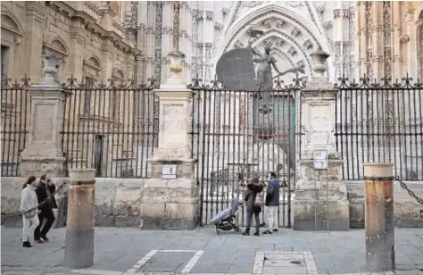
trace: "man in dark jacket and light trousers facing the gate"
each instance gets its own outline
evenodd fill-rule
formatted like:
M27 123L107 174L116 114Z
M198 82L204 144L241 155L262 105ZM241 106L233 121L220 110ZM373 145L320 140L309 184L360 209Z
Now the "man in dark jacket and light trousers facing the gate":
M278 231L279 179L275 172L270 172L265 205L268 229L263 234L271 234L273 231Z

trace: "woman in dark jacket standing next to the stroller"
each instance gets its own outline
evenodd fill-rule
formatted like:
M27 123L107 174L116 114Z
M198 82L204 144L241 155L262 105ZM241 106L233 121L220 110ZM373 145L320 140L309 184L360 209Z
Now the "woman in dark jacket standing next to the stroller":
M260 196L263 186L259 183L259 178L254 177L250 184L247 185L247 190L245 192L245 205L246 205L246 228L243 233L244 236L250 235L251 220L255 219L255 233L254 236L260 236L260 212L261 205L256 204L257 195Z

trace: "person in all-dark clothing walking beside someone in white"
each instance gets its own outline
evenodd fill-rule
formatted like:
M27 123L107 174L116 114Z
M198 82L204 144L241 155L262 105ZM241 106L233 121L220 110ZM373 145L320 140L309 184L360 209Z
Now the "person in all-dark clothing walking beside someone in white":
M37 243L43 243L45 241L48 242L48 237L46 235L54 222L53 209L57 208L54 196L50 197L51 194L54 193L55 188L54 183L52 183L50 179L47 179L46 175L41 176L37 185L36 193L39 203L42 203L45 200L46 202L39 207L39 225L34 231L34 239ZM43 226L44 219L46 219L46 223ZM43 229L41 229L41 227L43 227Z

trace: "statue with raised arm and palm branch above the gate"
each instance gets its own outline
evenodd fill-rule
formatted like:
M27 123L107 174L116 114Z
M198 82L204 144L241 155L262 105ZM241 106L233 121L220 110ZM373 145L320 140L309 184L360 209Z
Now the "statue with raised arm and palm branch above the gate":
M278 66L276 65L277 63L276 58L270 54L270 49L271 49L270 43L267 43L264 46L264 53L260 53L259 51L254 49L252 46L253 41L251 38L257 37L258 35L263 35L263 31L257 30L257 29L250 29L249 35L250 35L250 39L248 41L248 44L253 53L252 61L253 63L258 63L256 79L258 81L259 90L271 90L273 88L273 79L275 79L278 76L283 76L289 72L295 72L297 75L298 75L298 71L301 73L304 73L303 68L300 68L300 67L293 68L284 72L279 71ZM278 76L276 76L275 78L272 76L271 67L273 67L273 69L278 72Z

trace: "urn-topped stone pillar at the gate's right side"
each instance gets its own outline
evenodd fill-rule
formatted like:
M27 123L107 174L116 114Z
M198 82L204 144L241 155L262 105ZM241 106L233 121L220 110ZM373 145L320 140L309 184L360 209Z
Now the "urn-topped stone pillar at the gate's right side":
M300 160L301 179L296 183L294 198L294 229L348 230L349 203L346 187L340 180L342 160L335 146L335 101L338 91L324 77L329 54L319 49L311 54L314 78L302 90L305 129L304 152ZM328 170L316 177L313 154L326 150ZM316 198L323 204L316 204Z

